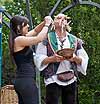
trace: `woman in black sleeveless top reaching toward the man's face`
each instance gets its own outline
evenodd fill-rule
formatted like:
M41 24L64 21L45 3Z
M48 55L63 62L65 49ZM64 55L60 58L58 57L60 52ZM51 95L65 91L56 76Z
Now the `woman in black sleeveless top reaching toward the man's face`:
M9 45L11 56L17 66L14 88L18 94L19 104L39 104L30 45L38 44L46 38L51 22L51 17L46 16L44 22L28 32L26 17L14 16L10 21Z

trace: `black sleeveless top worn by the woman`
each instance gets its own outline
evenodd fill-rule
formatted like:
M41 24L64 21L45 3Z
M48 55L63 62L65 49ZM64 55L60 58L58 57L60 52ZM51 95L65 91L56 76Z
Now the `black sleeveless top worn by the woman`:
M14 53L14 60L17 66L17 78L34 78L35 68L33 64L33 52L29 46L23 50Z

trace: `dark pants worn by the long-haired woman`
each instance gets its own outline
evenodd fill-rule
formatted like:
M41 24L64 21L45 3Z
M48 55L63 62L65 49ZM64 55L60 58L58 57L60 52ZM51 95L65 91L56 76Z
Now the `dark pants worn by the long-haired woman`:
M18 78L14 87L19 104L39 104L38 89L33 78Z

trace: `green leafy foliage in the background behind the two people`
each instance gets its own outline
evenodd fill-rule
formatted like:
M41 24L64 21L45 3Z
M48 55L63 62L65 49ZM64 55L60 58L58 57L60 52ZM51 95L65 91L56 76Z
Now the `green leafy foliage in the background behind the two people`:
M100 0L92 0L100 3ZM49 14L57 0L30 0L30 10L32 14L32 21L35 27L43 18ZM69 5L71 0L62 0L54 15L58 14L64 7ZM26 3L25 0L14 0L12 3L6 3L6 11L11 15L25 15ZM100 103L100 9L89 5L77 5L76 7L66 11L65 14L72 18L72 31L84 41L84 48L89 55L89 64L87 69L87 76L79 74L79 99L80 104L94 104ZM4 20L9 20L4 16ZM8 35L9 29L3 26L3 84L9 83L9 78L13 77L15 71L10 60L8 50ZM12 74L12 75L11 75ZM8 77L7 77L8 76ZM10 76L10 77L9 77ZM45 94L45 86L43 78L41 78L42 96Z

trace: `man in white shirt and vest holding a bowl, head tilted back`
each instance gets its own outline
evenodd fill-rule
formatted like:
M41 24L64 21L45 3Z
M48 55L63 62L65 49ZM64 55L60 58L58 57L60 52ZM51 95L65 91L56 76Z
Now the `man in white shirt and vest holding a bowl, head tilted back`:
M86 75L88 55L82 41L69 33L68 19L64 14L55 16L54 30L37 46L35 64L45 79L46 104L58 104L60 95L62 104L78 104L76 70ZM64 49L74 49L73 55L64 57L64 51L58 55Z

